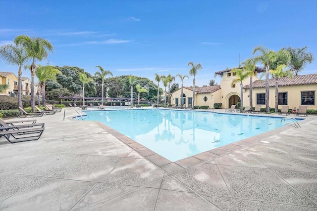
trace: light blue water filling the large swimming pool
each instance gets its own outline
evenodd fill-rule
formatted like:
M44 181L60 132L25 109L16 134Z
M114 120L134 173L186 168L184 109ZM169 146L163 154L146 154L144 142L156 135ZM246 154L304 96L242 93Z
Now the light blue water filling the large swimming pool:
M213 112L142 109L85 111L174 162L278 127L280 118Z

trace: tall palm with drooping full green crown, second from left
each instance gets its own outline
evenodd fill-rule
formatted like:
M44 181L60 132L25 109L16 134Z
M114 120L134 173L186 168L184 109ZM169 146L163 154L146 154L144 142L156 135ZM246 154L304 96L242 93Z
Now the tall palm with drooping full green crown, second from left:
M43 38L30 38L26 35L19 35L14 39L14 43L17 45L22 45L28 58L32 58L31 70L31 108L34 112L34 75L35 75L35 60L42 61L44 58L48 57L48 52L53 52L53 45L46 39Z

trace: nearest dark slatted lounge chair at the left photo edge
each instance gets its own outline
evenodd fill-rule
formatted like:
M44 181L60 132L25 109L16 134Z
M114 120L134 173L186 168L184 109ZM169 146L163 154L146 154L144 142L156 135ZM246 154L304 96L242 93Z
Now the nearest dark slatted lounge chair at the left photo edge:
M2 124L4 126L0 127L0 138L4 137L10 143L38 140L45 129L44 123L18 126L9 126L4 122Z

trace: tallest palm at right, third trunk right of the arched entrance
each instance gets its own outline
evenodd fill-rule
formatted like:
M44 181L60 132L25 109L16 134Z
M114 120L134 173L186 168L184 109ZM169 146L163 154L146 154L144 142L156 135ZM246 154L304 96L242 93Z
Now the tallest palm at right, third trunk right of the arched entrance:
M258 46L253 49L253 54L256 52L260 52L261 55L258 55L254 58L255 63L261 62L265 66L265 110L266 113L269 114L269 70L270 64L274 63L277 59L290 57L289 53L286 50L279 50L275 52L274 50L270 50L265 48L264 46Z

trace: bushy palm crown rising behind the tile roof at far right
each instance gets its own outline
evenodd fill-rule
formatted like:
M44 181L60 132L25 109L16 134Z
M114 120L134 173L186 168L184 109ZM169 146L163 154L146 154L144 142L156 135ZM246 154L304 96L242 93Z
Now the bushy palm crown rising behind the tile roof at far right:
M307 49L308 46L302 48L286 48L286 50L291 54L290 68L295 76L298 75L298 72L304 69L307 63L312 63L314 61L313 53L306 52Z

